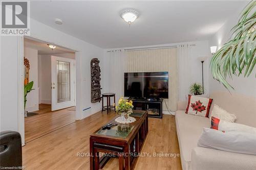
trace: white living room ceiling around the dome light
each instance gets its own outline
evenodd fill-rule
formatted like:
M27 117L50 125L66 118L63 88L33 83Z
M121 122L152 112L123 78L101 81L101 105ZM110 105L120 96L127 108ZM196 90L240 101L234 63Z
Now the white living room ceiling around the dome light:
M206 40L248 1L31 1L31 17L102 48ZM119 16L135 8L131 28ZM54 23L63 20L62 25Z

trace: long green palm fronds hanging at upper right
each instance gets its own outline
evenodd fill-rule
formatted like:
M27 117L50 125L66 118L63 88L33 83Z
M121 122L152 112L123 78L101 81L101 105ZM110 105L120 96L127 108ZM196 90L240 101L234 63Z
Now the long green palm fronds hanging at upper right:
M242 11L238 24L232 28L232 37L211 58L212 77L227 89L233 88L227 81L232 75L248 77L256 64L256 1L251 1Z

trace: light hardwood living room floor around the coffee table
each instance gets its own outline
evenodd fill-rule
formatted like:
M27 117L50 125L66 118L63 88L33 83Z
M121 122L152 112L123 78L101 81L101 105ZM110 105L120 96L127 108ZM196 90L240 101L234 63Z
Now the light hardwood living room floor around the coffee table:
M30 141L23 147L23 165L26 169L90 169L90 158L77 155L89 153L90 134L114 116L115 112L97 112ZM153 153L179 153L175 117L150 117L148 126L141 153L151 157L139 157L135 169L181 169L180 157L153 157ZM112 158L103 169L118 169L118 159Z

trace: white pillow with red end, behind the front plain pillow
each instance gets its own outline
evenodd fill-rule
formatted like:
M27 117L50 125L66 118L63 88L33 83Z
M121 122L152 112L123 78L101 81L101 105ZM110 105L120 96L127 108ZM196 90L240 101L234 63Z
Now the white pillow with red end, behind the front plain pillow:
M243 124L236 124L231 122L222 121L214 116L211 116L211 129L216 129L222 132L246 132L246 133L253 133L256 135L256 128L243 125Z

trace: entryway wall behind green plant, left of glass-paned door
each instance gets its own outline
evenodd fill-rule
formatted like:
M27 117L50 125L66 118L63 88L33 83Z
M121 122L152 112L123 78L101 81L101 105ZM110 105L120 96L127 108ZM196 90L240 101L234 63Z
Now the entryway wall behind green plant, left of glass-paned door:
M29 60L30 69L29 69L29 81L33 81L33 89L27 94L27 103L26 110L28 112L33 112L38 110L38 54L37 50L25 47L24 56Z

